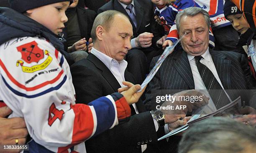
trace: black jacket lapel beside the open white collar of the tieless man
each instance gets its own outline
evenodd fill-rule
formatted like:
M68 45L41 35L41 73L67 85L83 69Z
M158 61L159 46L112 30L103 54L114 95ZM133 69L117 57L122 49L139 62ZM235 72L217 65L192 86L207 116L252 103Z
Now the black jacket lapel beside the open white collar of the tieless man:
M89 54L87 59L91 61L93 64L95 64L95 66L102 71L102 76L107 80L107 82L110 84L113 90L117 92L117 89L121 86L115 79L115 76L108 69L108 67L93 54Z

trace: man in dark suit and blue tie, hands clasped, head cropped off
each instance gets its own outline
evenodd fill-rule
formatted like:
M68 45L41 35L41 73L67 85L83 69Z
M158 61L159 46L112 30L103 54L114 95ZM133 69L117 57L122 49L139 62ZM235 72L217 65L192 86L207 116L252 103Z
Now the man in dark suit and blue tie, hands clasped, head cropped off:
M99 8L98 13L105 10L117 10L125 14L133 26L132 49L126 55L128 71L141 84L148 73L151 59L159 55L156 49L162 33L162 27L155 22L154 6L151 0L110 0ZM145 56L146 55L146 56Z

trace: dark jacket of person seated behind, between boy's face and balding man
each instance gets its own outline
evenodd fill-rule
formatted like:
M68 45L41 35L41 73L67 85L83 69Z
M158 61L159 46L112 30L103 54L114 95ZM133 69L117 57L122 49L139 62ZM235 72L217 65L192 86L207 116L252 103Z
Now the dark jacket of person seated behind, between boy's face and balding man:
M78 22L79 22L79 29L81 32L81 36L82 38L86 38L86 40L88 41L89 38L91 37L91 31L92 31L92 25L94 22L94 19L97 16L97 13L93 10L89 10L89 9L84 9L81 7L77 7L77 18L78 18ZM67 27L64 28L63 30L63 34L64 34L64 38L67 40ZM79 40L77 40L79 41ZM67 51L67 46L65 45L65 51Z

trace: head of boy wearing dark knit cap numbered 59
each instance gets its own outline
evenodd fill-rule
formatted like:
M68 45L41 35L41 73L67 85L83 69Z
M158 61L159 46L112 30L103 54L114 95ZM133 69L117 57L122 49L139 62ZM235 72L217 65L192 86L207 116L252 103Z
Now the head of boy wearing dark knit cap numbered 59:
M230 21L236 31L243 34L248 30L249 26L243 17L243 12L241 12L234 3L226 0L223 12L225 18Z

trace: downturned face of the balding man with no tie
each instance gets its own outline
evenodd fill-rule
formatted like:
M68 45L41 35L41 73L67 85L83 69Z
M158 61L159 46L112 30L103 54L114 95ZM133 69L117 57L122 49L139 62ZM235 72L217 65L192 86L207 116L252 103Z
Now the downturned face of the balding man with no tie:
M115 15L108 31L102 33L102 53L111 58L122 61L131 49L133 27L123 15Z

